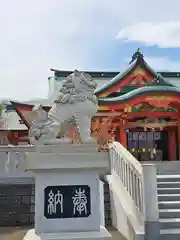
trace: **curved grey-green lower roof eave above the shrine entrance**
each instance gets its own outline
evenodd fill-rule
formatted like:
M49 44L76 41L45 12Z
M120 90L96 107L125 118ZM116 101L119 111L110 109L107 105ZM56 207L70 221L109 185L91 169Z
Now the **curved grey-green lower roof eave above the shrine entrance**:
M149 93L176 93L178 96L180 96L180 89L176 87L171 86L147 86L135 89L131 92L125 93L121 96L114 97L114 98L99 98L99 104L100 105L108 105L108 104L119 104L123 103L125 101L137 98L142 95L147 95Z

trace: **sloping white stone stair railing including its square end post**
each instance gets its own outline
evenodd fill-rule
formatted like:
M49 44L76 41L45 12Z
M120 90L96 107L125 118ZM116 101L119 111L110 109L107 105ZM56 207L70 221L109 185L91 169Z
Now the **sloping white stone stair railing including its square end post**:
M119 142L110 145L109 153L111 174L127 193L138 217L143 221L157 221L156 166L141 164Z

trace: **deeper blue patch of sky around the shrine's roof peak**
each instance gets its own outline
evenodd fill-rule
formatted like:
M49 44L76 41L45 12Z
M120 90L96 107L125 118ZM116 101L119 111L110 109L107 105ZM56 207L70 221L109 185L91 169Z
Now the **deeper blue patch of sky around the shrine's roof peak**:
M107 47L101 54L98 53L93 68L110 71L124 69L131 60L132 54L140 47L145 60L155 69L161 71L180 71L180 49L179 48L158 48L146 46L137 42L119 43L115 42Z

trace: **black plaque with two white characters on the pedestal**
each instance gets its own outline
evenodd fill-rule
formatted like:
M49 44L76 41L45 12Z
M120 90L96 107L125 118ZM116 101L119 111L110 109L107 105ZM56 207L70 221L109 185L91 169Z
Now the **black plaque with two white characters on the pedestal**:
M48 186L44 189L44 216L56 218L85 218L91 214L88 185Z

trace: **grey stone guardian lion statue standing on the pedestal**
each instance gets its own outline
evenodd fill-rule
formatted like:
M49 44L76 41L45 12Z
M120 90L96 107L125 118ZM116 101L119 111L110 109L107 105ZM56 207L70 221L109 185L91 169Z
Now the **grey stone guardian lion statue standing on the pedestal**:
M67 76L48 113L41 105L34 107L35 119L29 130L31 143L71 142L67 138L57 138L66 124L76 125L81 143L94 141L91 138L91 118L98 108L95 88L96 83L89 74L75 70Z

